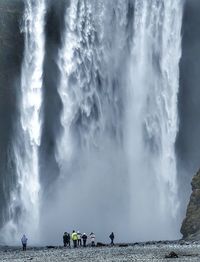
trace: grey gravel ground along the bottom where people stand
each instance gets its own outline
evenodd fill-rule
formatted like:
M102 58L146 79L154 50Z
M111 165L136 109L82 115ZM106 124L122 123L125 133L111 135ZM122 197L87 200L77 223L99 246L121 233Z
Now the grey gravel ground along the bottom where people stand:
M165 258L171 251L178 258ZM200 261L200 244L140 244L128 247L87 247L64 249L56 247L29 248L1 247L0 261L8 262L61 262L61 261Z

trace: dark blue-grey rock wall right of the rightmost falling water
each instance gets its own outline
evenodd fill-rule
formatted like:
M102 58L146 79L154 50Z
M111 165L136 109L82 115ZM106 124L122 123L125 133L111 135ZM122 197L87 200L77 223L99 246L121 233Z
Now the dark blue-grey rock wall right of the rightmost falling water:
M186 0L180 61L179 134L176 151L182 214L191 192L190 181L200 167L200 1Z

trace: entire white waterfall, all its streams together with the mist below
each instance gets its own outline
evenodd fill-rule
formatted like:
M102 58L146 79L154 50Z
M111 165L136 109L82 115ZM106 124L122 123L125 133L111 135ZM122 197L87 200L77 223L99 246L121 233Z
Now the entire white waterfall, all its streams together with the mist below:
M102 240L110 231L120 241L177 238L182 0L71 0L64 5L62 46L56 53L58 43L48 45L60 72L53 92L62 102L57 116L62 130L53 137L56 124L50 121L55 114L48 115L46 125L54 127L47 141L60 176L52 169L51 178L59 178L48 183L45 177L45 186L51 185L40 213L42 77L49 73L43 72L43 63L45 33L50 41L51 30L44 32L49 29L45 0L26 0L20 123L14 143L17 186L2 232L9 243L13 232L37 241L38 226L44 237L38 242L45 243L60 241L66 226L94 230ZM50 17L54 15L52 11ZM47 101L50 89L45 90ZM52 103L52 110L60 100Z

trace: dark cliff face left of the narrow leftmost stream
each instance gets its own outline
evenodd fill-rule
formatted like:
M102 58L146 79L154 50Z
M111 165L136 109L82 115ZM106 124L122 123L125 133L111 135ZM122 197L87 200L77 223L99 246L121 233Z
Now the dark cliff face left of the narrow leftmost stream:
M10 145L23 57L23 8L23 0L0 0L0 225L6 219L9 191L15 183Z

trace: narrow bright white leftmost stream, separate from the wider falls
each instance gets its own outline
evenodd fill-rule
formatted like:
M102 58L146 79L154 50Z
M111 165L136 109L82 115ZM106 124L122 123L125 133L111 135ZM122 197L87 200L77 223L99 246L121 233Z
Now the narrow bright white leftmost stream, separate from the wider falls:
M10 243L26 233L36 240L39 223L39 155L41 138L42 74L44 60L45 0L26 0L23 32L24 60L21 72L20 124L14 143L17 173L12 192L10 221L5 235ZM9 236L9 233L11 234ZM10 238L10 239L9 239Z

